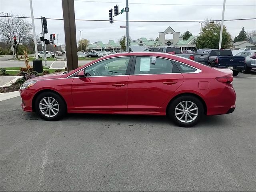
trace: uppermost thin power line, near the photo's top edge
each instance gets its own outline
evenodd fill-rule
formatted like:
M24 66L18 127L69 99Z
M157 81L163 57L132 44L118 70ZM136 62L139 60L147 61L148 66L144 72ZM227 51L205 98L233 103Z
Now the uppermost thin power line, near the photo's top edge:
M118 3L125 4L125 2L108 2L108 1L86 1L86 0L74 0L80 2L90 2L90 3ZM173 6L223 6L223 5L210 5L210 4L158 4L158 3L130 3L129 4L139 4L139 5L173 5ZM226 6L255 6L255 5L226 5Z

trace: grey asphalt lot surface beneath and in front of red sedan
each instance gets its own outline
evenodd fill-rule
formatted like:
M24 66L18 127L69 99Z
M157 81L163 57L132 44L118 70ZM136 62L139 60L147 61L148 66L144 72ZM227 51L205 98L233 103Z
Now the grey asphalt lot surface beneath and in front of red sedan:
M165 117L70 114L46 122L0 102L1 191L255 191L256 75L232 114L193 128Z

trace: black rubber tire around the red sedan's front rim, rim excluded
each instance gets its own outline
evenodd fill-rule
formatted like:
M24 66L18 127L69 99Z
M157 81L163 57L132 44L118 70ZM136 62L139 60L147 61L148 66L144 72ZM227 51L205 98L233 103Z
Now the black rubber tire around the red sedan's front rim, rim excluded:
M58 105L59 105L59 108L58 108L58 113L53 116L53 117L47 117L45 116L44 114L42 114L42 112L40 111L40 101L45 98L45 97L51 97L51 98L54 98L57 102L58 102ZM36 98L36 102L35 102L35 109L36 109L36 112L39 114L39 116L41 118L43 118L44 120L47 120L47 121L56 121L56 120L59 120L61 118L63 118L63 116L66 114L66 102L63 100L62 97L60 97L58 94L54 93L54 92L42 92L41 94L39 94Z

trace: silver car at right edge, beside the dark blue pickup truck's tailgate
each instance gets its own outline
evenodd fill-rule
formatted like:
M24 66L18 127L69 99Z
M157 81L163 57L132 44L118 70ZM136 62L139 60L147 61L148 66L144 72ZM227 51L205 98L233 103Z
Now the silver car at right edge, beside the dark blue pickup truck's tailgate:
M251 70L256 70L256 50L251 51L242 51L236 56L244 56L245 57L245 68L242 70L242 73L248 73Z

